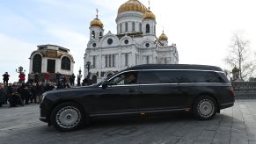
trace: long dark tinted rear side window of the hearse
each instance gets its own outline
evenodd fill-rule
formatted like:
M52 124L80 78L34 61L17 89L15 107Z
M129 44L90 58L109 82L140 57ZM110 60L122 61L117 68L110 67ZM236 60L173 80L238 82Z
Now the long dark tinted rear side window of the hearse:
M224 83L216 72L191 70L152 70L139 72L140 84L151 83Z

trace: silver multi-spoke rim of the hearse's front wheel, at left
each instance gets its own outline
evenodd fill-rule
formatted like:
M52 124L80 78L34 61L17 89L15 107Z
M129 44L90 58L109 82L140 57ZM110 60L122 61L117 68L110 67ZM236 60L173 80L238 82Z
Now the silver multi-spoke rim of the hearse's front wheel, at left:
M56 114L56 122L58 126L63 128L72 128L77 126L81 120L80 111L74 106L66 106L59 110Z

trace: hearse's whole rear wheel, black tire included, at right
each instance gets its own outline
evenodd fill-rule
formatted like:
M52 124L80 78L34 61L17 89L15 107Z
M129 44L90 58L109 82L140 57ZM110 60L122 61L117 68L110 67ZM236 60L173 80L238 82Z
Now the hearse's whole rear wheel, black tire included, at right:
M193 113L196 119L208 120L216 116L217 104L213 97L198 97L193 105Z

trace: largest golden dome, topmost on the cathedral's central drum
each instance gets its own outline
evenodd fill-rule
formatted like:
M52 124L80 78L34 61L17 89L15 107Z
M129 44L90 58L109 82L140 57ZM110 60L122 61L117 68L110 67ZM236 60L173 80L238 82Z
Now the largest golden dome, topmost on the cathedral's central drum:
M128 0L125 4L121 4L121 6L118 9L118 14L120 14L123 11L140 11L140 12L146 12L148 9L145 7L141 2L138 0Z

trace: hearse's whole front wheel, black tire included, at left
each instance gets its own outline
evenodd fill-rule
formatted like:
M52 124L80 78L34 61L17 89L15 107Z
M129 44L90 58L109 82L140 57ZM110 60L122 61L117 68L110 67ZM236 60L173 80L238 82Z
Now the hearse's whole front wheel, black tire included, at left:
M84 126L85 112L79 104L65 102L55 107L50 119L57 130L69 132Z

